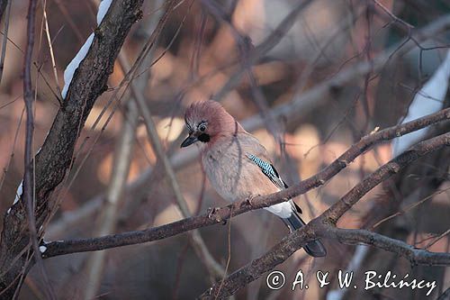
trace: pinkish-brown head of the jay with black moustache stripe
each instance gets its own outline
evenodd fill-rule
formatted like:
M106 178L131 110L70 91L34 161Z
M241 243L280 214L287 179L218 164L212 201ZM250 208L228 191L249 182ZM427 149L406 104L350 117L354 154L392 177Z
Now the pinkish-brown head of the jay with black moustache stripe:
M241 129L222 105L212 100L190 105L184 114L184 122L189 130L189 136L181 144L182 148L196 141L209 143L220 136L227 136Z

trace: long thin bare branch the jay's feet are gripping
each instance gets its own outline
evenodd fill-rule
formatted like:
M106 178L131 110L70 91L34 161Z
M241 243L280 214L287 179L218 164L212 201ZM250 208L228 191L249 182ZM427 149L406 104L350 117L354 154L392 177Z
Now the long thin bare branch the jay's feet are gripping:
M383 131L366 135L364 138L350 147L349 150L344 152L338 159L333 161L333 163L331 163L327 168L324 168L315 176L307 178L301 181L299 184L291 186L281 192L272 195L257 196L252 199L251 204L248 201L244 200L232 205L217 208L210 214L201 214L199 216L185 218L174 223L149 228L144 231L124 232L106 235L94 239L52 241L48 244L45 244L47 250L45 251L44 256L45 258L49 258L68 253L104 250L125 245L143 243L147 241L157 241L182 232L188 232L196 228L208 226L214 223L220 223L223 220L229 219L231 212L233 216L236 216L238 214L246 213L250 210L255 210L257 208L281 203L284 201L284 199L291 199L297 195L302 195L310 191L312 188L325 184L327 180L337 175L340 170L346 168L351 161L356 159L357 156L361 155L366 150L369 150L374 146L374 144L380 141L388 141L395 137L427 127L430 124L448 119L450 119L450 109L442 110L437 114L429 114L428 116L419 118L409 123L392 126L390 128L384 129ZM403 160L395 161L400 164L405 163L405 156L409 159L417 159L417 156L419 154L423 155L425 153L424 151L426 150L422 150L421 152L416 151L418 152L418 154L414 155L410 151L408 151L407 153L404 153L404 156L399 157ZM413 153L416 152L413 151ZM391 170L391 167L385 168L385 170ZM338 212L341 211L339 210ZM332 214L329 214L328 216L332 217Z

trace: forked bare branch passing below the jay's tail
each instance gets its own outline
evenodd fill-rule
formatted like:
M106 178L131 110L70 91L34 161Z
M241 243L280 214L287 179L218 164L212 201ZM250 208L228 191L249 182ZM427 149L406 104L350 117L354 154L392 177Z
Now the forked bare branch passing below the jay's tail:
M317 238L331 238L340 242L365 242L377 248L397 253L410 259L415 264L450 265L450 253L433 253L428 252L428 250L415 250L403 241L393 240L378 233L363 230L338 229L334 227L338 218L355 205L372 188L383 182L387 177L397 173L411 161L419 159L419 157L444 146L450 146L450 133L422 141L410 150L402 153L399 157L392 159L389 163L378 168L368 177L365 177L365 180L352 188L347 195L344 195L338 203L332 205L327 212L321 214L300 230L284 237L282 241L262 257L254 259L246 266L239 268L229 275L223 283L215 284L200 297L202 299L223 299L229 295L233 295L239 288L246 286L249 282L256 280L266 273L266 271L284 262L293 252L302 248L308 241Z

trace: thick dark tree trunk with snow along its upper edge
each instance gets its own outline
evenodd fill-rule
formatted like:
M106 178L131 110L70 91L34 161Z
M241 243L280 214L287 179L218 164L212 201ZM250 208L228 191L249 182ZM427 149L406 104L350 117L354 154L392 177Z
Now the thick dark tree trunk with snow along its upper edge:
M143 0L113 1L102 25L95 31L94 41L85 59L76 69L67 97L55 117L49 134L35 158L36 226L49 217L54 204L49 196L64 179L72 162L76 140L94 101L106 87L112 67L130 27L140 15ZM0 290L17 286L17 275L26 266L23 255L29 247L23 201L15 204L4 216L0 242ZM12 283L15 284L12 285Z

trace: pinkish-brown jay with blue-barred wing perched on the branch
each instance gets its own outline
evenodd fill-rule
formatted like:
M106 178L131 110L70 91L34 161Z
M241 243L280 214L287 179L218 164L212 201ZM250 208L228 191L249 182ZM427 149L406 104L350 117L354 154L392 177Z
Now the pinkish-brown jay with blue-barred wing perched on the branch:
M286 188L267 150L217 102L204 101L190 105L184 122L189 136L181 147L200 141L202 167L211 185L230 202L268 195ZM301 209L292 200L265 207L279 216L290 231L305 225ZM304 250L313 257L327 254L319 241L310 241Z

